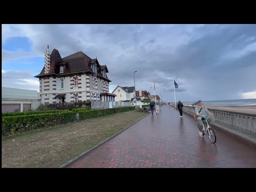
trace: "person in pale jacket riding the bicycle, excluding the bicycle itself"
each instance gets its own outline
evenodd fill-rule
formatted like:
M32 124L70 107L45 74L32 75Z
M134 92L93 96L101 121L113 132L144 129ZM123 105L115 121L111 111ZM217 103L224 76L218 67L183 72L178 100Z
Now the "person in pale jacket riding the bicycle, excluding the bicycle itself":
M196 113L196 116L197 116L197 118L196 118L197 123L199 125L198 126L199 134L203 135L203 132L202 132L203 131L203 121L202 121L201 115L205 116L205 115L212 115L212 114L210 113L210 111L205 106L203 106L201 100L197 101L197 106L195 107L195 113ZM209 120L208 124L210 125L210 118L208 120Z

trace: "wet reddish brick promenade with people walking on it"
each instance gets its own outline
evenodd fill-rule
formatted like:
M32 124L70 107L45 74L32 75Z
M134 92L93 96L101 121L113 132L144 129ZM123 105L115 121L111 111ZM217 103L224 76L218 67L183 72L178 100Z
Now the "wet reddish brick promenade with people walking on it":
M163 106L69 167L256 167L255 146L214 131L215 145L193 117Z

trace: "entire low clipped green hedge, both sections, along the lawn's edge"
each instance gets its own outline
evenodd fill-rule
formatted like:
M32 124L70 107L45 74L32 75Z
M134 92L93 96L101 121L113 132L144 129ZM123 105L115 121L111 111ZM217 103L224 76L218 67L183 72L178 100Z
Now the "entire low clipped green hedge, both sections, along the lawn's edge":
M79 114L79 120L84 120L134 109L135 107L122 107L113 109L80 110L69 112L62 111L62 113L2 116L2 135L22 133L29 130L74 122L76 121L77 113Z

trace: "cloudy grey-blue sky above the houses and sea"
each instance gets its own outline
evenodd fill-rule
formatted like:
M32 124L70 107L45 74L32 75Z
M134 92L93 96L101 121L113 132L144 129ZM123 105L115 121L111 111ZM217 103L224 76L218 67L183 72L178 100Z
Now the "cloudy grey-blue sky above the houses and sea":
M107 65L110 93L134 86L174 102L256 98L256 25L2 25L2 86L39 91L44 51Z

